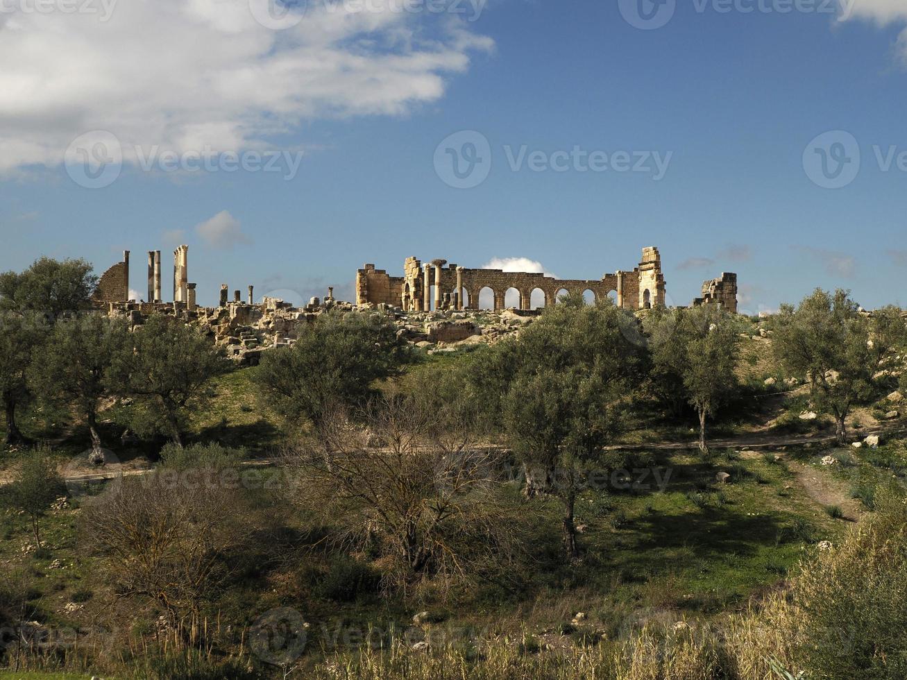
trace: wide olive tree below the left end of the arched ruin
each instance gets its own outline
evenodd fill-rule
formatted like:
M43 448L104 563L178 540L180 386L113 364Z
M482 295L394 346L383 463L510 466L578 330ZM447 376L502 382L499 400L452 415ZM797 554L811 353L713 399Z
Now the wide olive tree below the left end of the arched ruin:
M363 406L375 380L396 374L405 358L389 317L332 311L307 325L296 345L262 355L256 379L278 412L318 423L337 405Z

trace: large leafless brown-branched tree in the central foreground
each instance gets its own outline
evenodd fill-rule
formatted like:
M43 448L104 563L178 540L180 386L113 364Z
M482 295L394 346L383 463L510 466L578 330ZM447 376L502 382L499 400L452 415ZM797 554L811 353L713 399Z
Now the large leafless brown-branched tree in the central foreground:
M336 407L288 452L297 498L348 549L385 560L390 585L473 582L513 559L519 500L502 485L502 452L480 445L455 405L383 396L354 424ZM516 496L517 494L511 494Z

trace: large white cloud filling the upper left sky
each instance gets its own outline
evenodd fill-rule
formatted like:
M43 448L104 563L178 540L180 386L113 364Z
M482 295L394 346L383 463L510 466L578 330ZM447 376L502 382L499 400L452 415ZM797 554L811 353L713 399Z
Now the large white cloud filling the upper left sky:
M98 130L116 136L126 162L136 146L272 148L303 121L433 102L473 51L493 46L455 15L393 11L393 0L293 3L305 15L276 31L255 17L273 1L0 12L0 172L59 165L75 138Z

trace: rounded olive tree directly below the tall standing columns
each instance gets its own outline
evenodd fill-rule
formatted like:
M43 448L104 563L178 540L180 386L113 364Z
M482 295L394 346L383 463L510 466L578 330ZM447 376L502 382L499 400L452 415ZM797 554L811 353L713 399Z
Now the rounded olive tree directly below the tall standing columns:
M198 330L151 316L112 357L110 385L138 400L136 432L163 432L181 445L190 403L203 403L205 384L227 369L227 360Z

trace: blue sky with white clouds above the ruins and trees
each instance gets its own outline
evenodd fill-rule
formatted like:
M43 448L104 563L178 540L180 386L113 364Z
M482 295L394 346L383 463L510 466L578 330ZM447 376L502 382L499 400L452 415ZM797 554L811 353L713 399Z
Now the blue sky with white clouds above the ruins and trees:
M618 0L488 0L475 21L464 3L465 15L334 24L313 0L274 31L247 25L256 2L172 0L165 12L120 0L105 22L0 14L0 63L14 64L0 73L0 269L50 255L86 257L100 272L128 248L143 294L146 251L166 263L188 243L190 281L213 304L221 283L300 299L333 285L348 297L364 262L398 273L410 255L466 267L522 257L597 278L656 245L673 304L736 271L751 311L814 287L907 306L907 156L899 168L897 155L907 151L907 8L894 0L834 13L824 0L789 13L793 0L678 0L653 30L625 20ZM138 21L147 45L130 38ZM55 46L61 26L85 39ZM158 30L172 44L152 39ZM43 44L53 58L42 61ZM59 80L48 85L49 74ZM63 158L98 130L127 151L116 180L89 189ZM459 131L468 136L442 144ZM824 151L811 146L829 131L813 144ZM443 161L450 148L467 168L464 139L487 141L491 166L458 189ZM149 171L128 151L209 143L303 155L287 179L283 159L279 172ZM574 149L598 152L608 169L564 160ZM842 150L844 186L820 186L814 162ZM621 151L652 171L611 167ZM532 170L533 152L548 170ZM668 159L663 177L652 154Z

